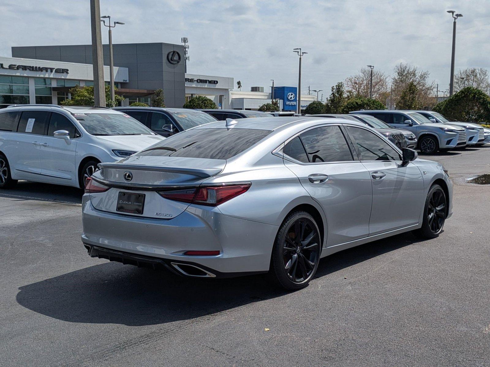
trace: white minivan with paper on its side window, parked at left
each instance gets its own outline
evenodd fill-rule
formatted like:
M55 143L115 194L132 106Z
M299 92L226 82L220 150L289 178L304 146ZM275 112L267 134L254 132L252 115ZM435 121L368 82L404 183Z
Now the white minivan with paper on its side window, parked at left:
M163 139L109 108L9 106L0 110L0 188L18 180L82 188L98 163L118 161Z

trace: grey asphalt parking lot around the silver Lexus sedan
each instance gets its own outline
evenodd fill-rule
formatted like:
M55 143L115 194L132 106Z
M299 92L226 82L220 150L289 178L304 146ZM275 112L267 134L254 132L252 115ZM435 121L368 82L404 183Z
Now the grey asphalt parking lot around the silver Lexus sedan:
M81 191L0 191L1 366L488 366L490 147L423 157L455 181L434 240L320 262L303 290L186 279L87 256Z

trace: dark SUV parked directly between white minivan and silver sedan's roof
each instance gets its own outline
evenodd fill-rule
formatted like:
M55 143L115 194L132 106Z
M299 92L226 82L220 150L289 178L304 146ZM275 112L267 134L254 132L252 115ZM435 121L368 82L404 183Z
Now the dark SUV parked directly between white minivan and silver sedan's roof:
M130 115L165 138L216 121L216 118L204 112L185 108L115 107L114 110Z

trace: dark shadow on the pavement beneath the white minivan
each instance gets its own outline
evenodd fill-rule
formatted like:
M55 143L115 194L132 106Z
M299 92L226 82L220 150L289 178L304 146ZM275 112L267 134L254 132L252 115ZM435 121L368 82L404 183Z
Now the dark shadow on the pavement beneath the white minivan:
M81 204L82 195L83 190L77 187L28 181L19 181L14 188L0 191L0 197L68 204Z

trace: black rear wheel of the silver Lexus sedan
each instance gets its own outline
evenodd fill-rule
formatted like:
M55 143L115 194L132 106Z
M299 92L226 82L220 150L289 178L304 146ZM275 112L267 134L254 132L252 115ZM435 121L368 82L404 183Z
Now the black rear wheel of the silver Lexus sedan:
M289 291L304 288L317 272L320 252L320 231L315 219L305 211L294 211L277 232L270 275Z

